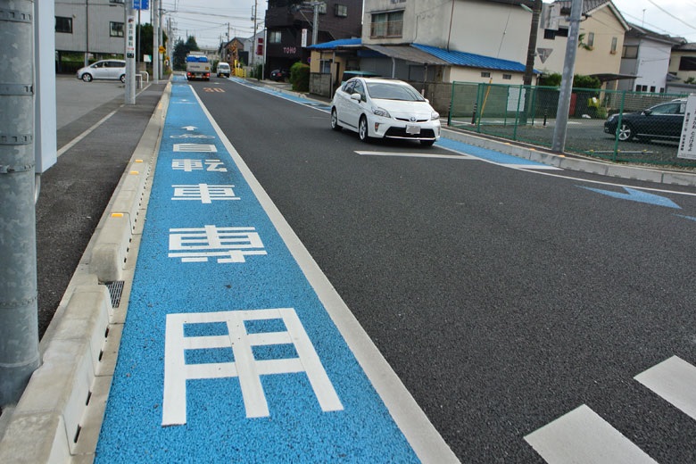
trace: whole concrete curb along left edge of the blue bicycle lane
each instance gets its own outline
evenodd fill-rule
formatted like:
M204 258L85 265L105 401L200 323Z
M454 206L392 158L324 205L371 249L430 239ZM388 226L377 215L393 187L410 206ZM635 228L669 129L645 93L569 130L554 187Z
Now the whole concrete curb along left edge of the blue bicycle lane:
M107 397L103 392L108 392L113 370L113 360L105 360L103 354L112 352L117 343L114 339L120 338L120 327L111 329L113 319L120 319L117 324L123 319L114 314L110 292L101 284L120 280L128 259L135 261L137 253L128 253L137 228L142 231L142 206L149 197L147 180L156 161L169 98L170 86L162 94L70 281L63 296L67 303L56 311L46 330L41 341L41 367L30 378L20 402L7 411L12 416L5 422L0 439L0 462L94 459L99 427L90 427L89 443L84 437L79 440L80 433L86 421L90 425L97 422L95 412L88 410L90 403L99 402L92 410L97 411L101 423Z

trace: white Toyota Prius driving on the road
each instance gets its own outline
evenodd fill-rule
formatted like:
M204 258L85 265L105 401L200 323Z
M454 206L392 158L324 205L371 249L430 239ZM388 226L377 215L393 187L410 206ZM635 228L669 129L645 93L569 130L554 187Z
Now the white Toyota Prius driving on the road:
M440 115L402 80L353 78L334 94L331 128L351 129L363 141L402 138L429 146L440 138Z

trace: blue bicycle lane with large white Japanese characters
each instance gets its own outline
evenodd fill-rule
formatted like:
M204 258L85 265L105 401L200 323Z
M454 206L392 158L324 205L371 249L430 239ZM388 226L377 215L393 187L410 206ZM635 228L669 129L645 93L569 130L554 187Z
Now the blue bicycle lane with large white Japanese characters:
M175 79L95 462L428 460L215 128Z

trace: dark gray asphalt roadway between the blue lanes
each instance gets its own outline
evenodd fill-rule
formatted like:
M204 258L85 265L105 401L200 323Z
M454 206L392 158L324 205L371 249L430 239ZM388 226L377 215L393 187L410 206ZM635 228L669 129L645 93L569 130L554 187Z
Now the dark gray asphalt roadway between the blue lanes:
M659 193L676 210L567 174L361 156L451 153L193 86L462 462L543 462L524 437L581 404L659 462L696 461L696 421L633 379L696 364L696 197Z

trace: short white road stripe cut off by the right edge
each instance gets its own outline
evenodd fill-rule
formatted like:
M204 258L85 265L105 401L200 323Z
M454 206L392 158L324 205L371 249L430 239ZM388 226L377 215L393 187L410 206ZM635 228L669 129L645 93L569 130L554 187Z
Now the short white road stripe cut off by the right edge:
M696 367L672 356L634 377L642 385L696 419Z

